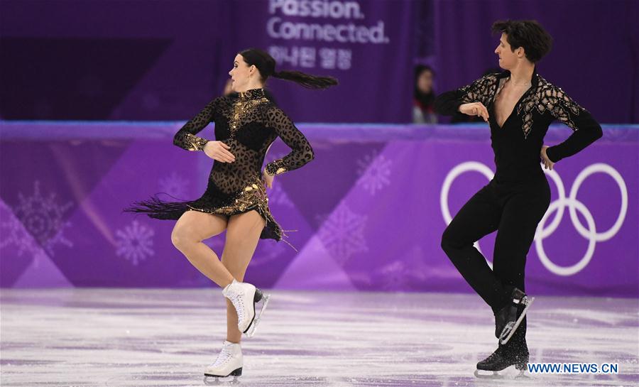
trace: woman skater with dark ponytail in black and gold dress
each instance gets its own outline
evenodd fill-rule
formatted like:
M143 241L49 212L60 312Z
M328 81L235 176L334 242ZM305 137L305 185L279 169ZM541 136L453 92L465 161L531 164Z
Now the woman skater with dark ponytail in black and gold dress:
M241 375L241 334L252 336L259 319L255 305L262 300L263 312L268 301L261 290L242 282L258 239L280 241L283 236L268 209L265 185L272 187L275 175L300 168L313 159L305 136L266 98L266 80L290 80L310 89L337 85L332 77L277 72L271 55L255 48L236 55L229 75L233 91L239 94L212 100L173 138L176 146L203 151L215 160L204 195L190 202L163 202L152 197L126 209L156 219L178 219L171 234L173 245L204 276L224 289L226 341L217 360L204 371L205 380L207 376ZM196 136L209 122L215 123L217 141ZM292 151L268 163L262 172L266 152L278 136ZM202 241L224 230L226 243L220 261Z

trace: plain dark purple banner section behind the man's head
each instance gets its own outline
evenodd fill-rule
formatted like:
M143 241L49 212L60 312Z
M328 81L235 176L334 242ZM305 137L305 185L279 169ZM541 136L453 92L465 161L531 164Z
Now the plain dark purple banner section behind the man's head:
M639 122L639 77L628 77L639 68L635 0L436 0L437 91L498 67L500 35L491 26L508 18L539 21L552 35L552 50L537 65L542 77L600 122Z

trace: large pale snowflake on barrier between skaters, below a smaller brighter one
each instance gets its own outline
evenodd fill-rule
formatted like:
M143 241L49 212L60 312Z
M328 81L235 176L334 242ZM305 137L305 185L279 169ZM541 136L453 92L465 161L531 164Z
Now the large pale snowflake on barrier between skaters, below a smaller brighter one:
M318 231L324 246L342 266L348 263L353 254L368 251L364 238L366 219L365 215L352 212L342 203Z

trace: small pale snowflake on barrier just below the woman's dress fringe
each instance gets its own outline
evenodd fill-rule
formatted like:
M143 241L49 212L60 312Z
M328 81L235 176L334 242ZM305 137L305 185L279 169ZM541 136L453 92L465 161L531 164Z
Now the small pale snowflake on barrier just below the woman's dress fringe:
M129 226L116 231L116 254L124 256L133 266L137 266L147 256L155 255L153 234L153 229L133 220Z

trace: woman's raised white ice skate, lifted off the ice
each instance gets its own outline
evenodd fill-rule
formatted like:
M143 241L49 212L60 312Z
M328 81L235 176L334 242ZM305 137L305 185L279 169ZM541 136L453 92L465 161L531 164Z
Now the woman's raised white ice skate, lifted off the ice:
M263 293L250 283L237 282L236 280L226 285L222 294L235 307L239 331L248 337L253 337L271 295ZM256 316L255 305L260 301L263 302L262 308L260 314Z

